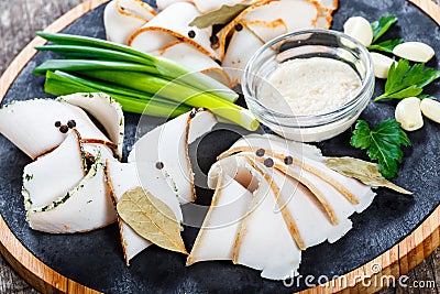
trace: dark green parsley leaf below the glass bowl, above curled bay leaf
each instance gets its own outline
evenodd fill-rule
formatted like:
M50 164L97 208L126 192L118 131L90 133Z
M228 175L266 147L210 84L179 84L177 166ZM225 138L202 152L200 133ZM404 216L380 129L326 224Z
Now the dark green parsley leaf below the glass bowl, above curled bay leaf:
M397 174L397 164L404 156L400 145L409 146L411 142L394 119L381 122L373 130L366 121L358 120L350 144L366 150L369 157L377 161L382 174L391 178Z

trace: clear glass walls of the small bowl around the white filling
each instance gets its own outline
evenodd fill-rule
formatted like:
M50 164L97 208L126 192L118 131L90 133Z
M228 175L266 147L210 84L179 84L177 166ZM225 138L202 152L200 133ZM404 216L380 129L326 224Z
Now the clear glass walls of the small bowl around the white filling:
M279 111L279 106L275 110L262 102L270 87L289 109L267 78L287 61L311 57L333 58L350 65L362 83L354 98L338 109L309 116ZM242 77L243 95L251 112L275 133L300 142L322 141L349 129L372 98L374 83L373 62L365 46L331 30L298 31L270 41L251 57Z

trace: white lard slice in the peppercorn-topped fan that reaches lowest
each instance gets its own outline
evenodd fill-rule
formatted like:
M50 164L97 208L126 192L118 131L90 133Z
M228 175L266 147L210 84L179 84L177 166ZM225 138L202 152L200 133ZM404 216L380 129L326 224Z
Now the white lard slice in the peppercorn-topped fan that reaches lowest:
M275 197L268 183L261 178L240 229L233 262L262 271L262 277L284 280L298 274L301 251Z

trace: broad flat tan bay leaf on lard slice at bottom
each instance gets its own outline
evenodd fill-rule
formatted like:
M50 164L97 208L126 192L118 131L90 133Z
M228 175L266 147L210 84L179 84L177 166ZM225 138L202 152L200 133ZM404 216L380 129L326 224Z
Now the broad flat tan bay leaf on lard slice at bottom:
M138 235L164 249L188 254L173 210L142 187L125 192L117 211Z

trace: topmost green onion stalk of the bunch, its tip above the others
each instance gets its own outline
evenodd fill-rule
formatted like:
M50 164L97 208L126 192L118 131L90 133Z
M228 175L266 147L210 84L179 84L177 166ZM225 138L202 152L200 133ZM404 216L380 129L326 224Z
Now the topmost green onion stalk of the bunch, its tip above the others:
M95 37L88 36L78 36L78 35L68 35L68 34L51 34L45 32L37 32L37 35L41 37L51 41L52 43L58 45L65 45L64 47L53 47L54 52L63 55L63 54L72 54L72 50L68 46L82 46L82 47L98 47L98 48L107 48L109 51L99 52L95 51L95 57L102 57L109 59L110 52L125 53L135 57L140 57L144 59L141 62L142 64L150 65L151 67L155 67L156 70L165 77L169 77L169 79L178 78L179 81L185 83L189 86L193 86L202 91L212 91L216 90L216 95L224 100L234 102L238 99L238 94L219 83L218 80L204 75L198 72L194 72L186 66L183 66L176 62L173 62L167 58L154 56L147 53L140 52L132 47L116 44L109 41L103 41ZM52 46L47 46L46 50L51 51ZM41 47L37 47L41 48ZM70 53L69 53L70 52ZM90 53L90 52L89 52ZM101 53L101 54L100 54ZM114 53L114 56L110 59L118 59L121 55ZM96 54L100 54L96 56ZM139 58L135 58L139 59ZM133 61L133 58L131 59Z

